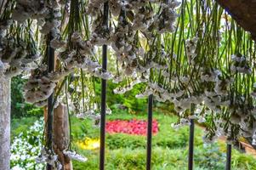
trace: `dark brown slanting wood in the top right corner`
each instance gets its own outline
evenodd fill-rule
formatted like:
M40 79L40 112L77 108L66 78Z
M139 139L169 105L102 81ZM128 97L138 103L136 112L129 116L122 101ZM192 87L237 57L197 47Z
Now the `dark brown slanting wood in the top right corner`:
M255 0L217 0L236 22L252 34L256 40L256 1Z

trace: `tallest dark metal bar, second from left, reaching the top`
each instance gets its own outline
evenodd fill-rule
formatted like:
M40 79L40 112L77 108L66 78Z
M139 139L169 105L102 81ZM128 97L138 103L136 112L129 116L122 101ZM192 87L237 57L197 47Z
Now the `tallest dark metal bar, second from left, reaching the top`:
M109 4L104 3L104 26L108 28ZM102 47L102 70L107 69L107 45ZM106 80L101 79L101 113L100 113L100 170L105 169L105 102Z

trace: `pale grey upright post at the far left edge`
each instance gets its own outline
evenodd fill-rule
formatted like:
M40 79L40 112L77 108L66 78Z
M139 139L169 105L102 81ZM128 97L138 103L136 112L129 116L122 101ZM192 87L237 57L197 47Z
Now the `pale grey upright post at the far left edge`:
M0 169L10 168L10 79L0 72Z

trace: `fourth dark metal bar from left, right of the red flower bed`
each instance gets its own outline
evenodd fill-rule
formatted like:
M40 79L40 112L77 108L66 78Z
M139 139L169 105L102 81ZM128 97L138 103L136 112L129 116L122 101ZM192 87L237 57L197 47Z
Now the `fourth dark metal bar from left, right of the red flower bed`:
M190 126L190 141L189 141L189 164L188 169L193 169L193 157L194 157L194 132L195 131L195 122L194 119L191 119Z

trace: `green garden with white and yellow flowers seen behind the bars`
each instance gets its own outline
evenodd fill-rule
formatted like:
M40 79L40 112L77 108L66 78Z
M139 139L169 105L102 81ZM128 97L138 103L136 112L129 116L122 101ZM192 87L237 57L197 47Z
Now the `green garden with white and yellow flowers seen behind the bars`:
M16 169L38 169L35 158L41 150L43 137L43 109L26 104L21 87L26 80L14 77L12 80L12 156L11 166ZM100 96L100 81L95 84ZM136 99L140 88L136 85L127 94L113 94L117 85L108 82L107 103L111 115L107 122L114 120L146 120L146 99ZM152 169L181 170L187 168L189 127L174 130L171 123L177 122L173 105L154 103L153 118L158 125L158 133L153 135ZM39 118L39 121L38 121ZM94 127L89 119L81 120L71 116L71 139L77 152L86 156L88 161L72 161L75 170L96 170L99 168L100 128ZM218 139L213 144L204 144L203 125L196 126L195 133L195 169L225 169L225 140ZM145 169L146 137L126 133L106 134L106 169L107 170L143 170ZM256 159L251 154L232 150L232 169L256 169Z

